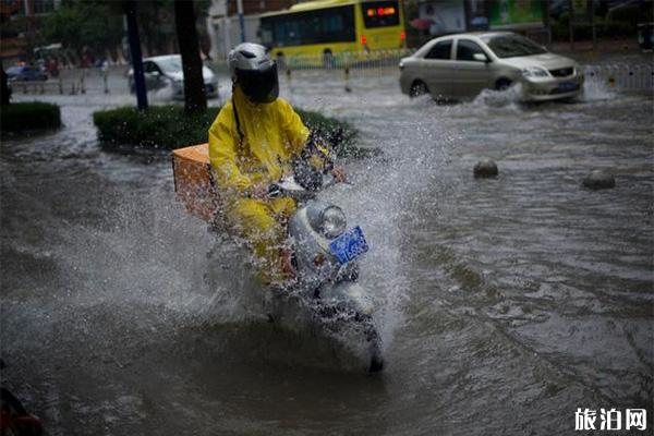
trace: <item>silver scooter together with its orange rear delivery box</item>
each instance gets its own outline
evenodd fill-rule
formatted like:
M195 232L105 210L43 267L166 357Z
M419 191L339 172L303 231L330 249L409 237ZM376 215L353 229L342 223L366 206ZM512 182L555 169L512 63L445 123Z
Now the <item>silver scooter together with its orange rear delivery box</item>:
M332 137L330 143L341 142L341 135L342 132L337 132L336 140ZM207 145L173 152L173 174L175 191L186 209L207 221L211 231L220 238L231 239L232 229L223 216ZM320 189L332 183L334 179L329 175L299 159L292 175L270 186L269 196L291 196L298 208L287 226L289 247L282 249L282 253L289 254L284 263L292 269L294 280L264 292L265 314L291 329L306 331L304 327L310 327L318 335L344 339L339 342L363 358L371 372L378 372L384 367L382 337L373 317L370 292L358 282L359 261L367 251L367 243L359 226L348 229L340 207L316 198ZM234 246L240 244L238 242ZM219 246L225 250L222 243ZM210 258L213 253L207 256ZM238 257L237 253L228 259L221 256L221 268L211 268L207 272L209 283L220 276L220 271L240 268ZM229 265L229 259L235 264ZM251 275L247 277L253 278ZM228 279L240 281L238 275L232 274ZM245 306L256 307L262 301L254 293L245 298L251 296L256 302ZM256 313L261 314L258 310Z

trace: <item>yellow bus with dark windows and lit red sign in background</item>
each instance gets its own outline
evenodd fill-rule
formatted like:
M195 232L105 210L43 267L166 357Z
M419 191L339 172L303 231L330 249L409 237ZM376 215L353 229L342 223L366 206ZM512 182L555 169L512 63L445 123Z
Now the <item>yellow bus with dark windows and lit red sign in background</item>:
M261 16L262 44L274 57L316 57L405 48L400 0L318 0Z

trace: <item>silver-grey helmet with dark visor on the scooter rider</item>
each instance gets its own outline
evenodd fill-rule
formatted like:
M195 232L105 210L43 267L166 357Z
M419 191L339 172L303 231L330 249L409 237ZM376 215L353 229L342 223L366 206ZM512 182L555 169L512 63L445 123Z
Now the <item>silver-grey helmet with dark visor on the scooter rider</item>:
M239 44L228 56L229 70L243 94L253 102L272 102L279 96L277 64L264 46Z

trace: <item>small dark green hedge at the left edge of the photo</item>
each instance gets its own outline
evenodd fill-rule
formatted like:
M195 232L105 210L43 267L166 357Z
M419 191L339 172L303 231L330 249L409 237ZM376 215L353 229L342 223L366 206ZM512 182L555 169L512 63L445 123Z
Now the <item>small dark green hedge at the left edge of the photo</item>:
M41 101L12 102L0 107L2 132L24 132L61 126L59 106Z

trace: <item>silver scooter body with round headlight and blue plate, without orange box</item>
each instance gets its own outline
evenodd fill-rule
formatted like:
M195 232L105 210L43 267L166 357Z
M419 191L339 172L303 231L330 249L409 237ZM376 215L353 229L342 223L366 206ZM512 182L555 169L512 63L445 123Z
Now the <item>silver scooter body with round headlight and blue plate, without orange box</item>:
M265 305L271 320L288 316L294 306L324 332L354 342L368 372L378 372L384 367L382 338L368 291L358 282L359 261L368 245L361 227L348 229L340 207L316 199L320 189L334 183L331 175L305 166L269 187L270 197L290 196L298 203L288 222L287 250L295 279L269 292ZM298 311L291 316L295 320Z

